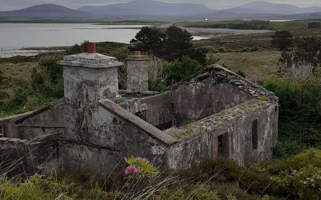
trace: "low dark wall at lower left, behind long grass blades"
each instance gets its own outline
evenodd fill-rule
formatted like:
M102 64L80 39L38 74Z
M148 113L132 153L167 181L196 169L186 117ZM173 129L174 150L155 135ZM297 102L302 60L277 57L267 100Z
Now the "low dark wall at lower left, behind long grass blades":
M0 137L0 174L24 177L60 168L60 138L58 132L33 140Z

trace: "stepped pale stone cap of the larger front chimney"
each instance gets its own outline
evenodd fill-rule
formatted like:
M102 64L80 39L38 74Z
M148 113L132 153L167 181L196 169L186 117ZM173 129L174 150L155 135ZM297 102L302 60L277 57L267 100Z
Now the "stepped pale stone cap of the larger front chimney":
M108 68L121 66L124 63L117 61L117 58L100 53L78 53L66 55L63 60L57 62L65 66L82 66L89 68Z

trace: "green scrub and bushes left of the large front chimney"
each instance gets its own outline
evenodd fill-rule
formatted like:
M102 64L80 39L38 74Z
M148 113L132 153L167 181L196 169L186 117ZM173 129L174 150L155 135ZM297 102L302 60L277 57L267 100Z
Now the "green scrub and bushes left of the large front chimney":
M62 67L56 64L61 58L46 56L38 62L0 64L0 117L38 109L62 97Z

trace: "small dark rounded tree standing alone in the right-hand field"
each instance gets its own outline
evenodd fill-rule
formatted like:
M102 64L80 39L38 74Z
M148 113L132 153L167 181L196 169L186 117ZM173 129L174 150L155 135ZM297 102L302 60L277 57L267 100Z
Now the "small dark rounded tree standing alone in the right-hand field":
M272 45L280 50L285 50L293 46L293 35L287 31L276 31L272 36Z

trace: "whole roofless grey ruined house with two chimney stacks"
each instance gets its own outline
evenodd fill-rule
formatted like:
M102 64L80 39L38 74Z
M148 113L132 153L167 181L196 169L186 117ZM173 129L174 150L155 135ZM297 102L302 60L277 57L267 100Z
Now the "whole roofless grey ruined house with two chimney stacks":
M278 125L272 92L217 64L163 93L147 91L148 61L129 56L127 90L119 90L123 63L116 58L65 56L63 98L0 120L1 170L104 174L130 155L169 168L218 156L245 166L272 156Z

